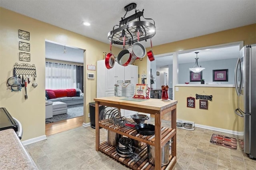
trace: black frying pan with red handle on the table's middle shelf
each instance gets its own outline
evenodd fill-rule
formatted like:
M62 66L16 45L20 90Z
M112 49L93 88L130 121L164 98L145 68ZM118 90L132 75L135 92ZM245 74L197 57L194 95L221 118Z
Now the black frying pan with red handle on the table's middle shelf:
M137 124L137 125L132 125L132 124L126 123L125 125L129 126L129 127L135 127L136 131L142 135L155 134L155 125L151 125L148 123L141 123L141 124Z

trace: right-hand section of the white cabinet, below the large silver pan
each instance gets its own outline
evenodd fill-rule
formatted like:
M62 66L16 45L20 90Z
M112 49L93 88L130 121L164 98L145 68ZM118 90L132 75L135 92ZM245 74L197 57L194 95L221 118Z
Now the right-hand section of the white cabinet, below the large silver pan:
M131 83L136 87L138 84L138 66L137 65L127 65L124 67L124 80L130 80Z

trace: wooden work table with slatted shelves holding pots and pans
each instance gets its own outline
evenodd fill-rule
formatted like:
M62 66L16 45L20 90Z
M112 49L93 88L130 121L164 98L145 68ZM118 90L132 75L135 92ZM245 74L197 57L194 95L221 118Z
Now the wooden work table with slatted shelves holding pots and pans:
M95 98L95 113L99 111L99 105L109 106L109 107L116 107L118 109L127 109L132 111L138 111L142 113L150 113L155 117L155 134L151 136L142 136L136 134L136 132L132 133L134 129L127 129L122 130L122 128L117 128L116 125L106 125L106 121L102 120L99 122L99 114L95 114L95 132L96 132L96 151L102 151L109 156L112 156L116 160L122 162L126 166L129 166L132 169L140 169L142 166L136 166L136 163L127 163L123 162L124 159L119 158L118 156L114 156L113 154L109 154L105 152L104 149L106 148L106 142L102 142L100 144L100 127L106 128L108 130L112 130L129 138L133 138L135 140L144 142L146 144L150 144L155 146L155 165L152 166L149 162L145 162L145 166L149 165L156 170L161 169L171 169L174 164L176 163L176 104L177 101L162 101L161 99L148 99L144 101L128 101L122 100L127 99L126 97L101 97ZM172 121L171 121L171 128L163 128L161 126L161 117L162 115L172 112ZM132 128L132 127L130 127ZM136 131L136 130L134 130ZM168 140L172 139L172 153L170 156L169 164L166 166L161 166L161 148L168 142ZM103 146L104 145L104 146ZM111 148L108 148L108 150ZM114 148L113 148L114 150ZM127 158L126 158L127 159ZM142 164L140 162L140 164Z

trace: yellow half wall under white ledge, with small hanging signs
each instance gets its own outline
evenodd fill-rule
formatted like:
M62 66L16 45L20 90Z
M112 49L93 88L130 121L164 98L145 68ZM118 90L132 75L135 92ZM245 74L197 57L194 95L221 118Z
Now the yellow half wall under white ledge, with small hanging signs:
M178 100L177 119L193 121L199 125L243 131L243 121L234 110L237 107L237 95L234 87L178 87L175 100ZM208 110L199 109L199 99L195 108L187 107L187 97L196 98L196 94L212 95L208 100Z

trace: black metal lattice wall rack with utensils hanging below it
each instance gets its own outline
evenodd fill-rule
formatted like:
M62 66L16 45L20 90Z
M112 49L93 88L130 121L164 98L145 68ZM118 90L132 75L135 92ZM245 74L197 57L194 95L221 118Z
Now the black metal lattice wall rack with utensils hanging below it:
M36 67L34 64L28 63L15 63L14 64L14 76L16 75L34 75L36 77Z

